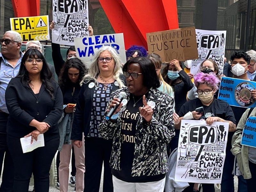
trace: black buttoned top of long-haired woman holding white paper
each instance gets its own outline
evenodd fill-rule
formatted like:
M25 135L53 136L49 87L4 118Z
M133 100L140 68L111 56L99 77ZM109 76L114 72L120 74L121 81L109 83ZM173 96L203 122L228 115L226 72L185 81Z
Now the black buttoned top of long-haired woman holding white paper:
M46 122L51 127L44 137L59 137L58 121L62 115L63 96L60 87L52 79L54 100L42 84L36 96L32 89L21 83L20 77L12 78L5 92L5 101L10 113L7 123L7 134L24 137L36 128L29 126L33 119ZM38 98L38 99L37 99Z

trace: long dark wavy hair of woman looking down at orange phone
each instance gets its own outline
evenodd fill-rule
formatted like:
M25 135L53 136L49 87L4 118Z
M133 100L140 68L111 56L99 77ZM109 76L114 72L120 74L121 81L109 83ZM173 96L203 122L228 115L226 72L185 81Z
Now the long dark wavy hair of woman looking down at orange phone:
M86 67L84 63L78 58L71 58L67 60L64 66L61 68L60 76L59 76L59 85L61 89L64 89L69 83L71 83L68 77L68 69L69 68L77 68L79 70L79 79L78 84L83 80L83 77L86 73Z

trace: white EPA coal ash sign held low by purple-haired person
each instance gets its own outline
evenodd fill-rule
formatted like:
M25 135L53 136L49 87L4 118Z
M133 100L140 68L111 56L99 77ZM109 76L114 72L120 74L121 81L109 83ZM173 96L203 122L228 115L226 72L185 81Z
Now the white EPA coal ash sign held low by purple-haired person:
M181 120L176 181L221 183L228 123Z

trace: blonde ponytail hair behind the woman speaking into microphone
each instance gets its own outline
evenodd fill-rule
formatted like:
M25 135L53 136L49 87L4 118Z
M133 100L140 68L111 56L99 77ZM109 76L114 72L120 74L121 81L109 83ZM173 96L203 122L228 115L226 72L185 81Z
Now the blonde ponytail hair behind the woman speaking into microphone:
M162 67L162 59L161 59L161 57L158 54L151 53L151 54L148 55L148 58L150 60L152 60L152 62L154 63L156 69L161 69L161 67ZM164 90L163 91L165 92L165 89L166 89L168 94L172 93L173 90L172 90L171 85L169 85L168 83L166 83L164 81L163 76L161 75L161 73L159 73L158 77L159 77L160 81L164 85Z

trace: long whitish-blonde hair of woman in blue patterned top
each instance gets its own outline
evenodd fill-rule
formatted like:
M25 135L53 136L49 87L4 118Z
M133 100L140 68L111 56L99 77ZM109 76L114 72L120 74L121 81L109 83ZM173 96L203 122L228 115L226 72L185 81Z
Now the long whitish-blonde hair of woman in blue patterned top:
M123 74L120 57L117 55L116 49L110 46L102 46L97 52L95 52L88 74L84 76L80 82L80 85L82 86L83 83L88 83L89 81L93 80L95 82L95 86L98 86L97 76L100 74L98 57L100 57L100 53L103 51L108 51L112 55L115 62L114 79L119 83L119 88L124 87L124 82L119 77L121 74Z

